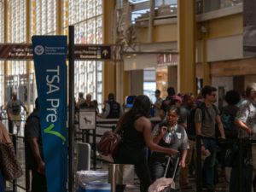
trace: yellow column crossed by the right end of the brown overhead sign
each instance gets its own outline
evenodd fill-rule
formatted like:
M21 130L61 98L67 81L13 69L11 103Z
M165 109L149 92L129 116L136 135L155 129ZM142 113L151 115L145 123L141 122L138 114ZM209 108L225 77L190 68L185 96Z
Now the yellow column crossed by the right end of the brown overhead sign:
M115 8L115 0L102 1L103 5L103 44L112 44L111 38L111 18ZM113 62L104 62L104 86L103 93L105 100L108 98L108 93L116 93L116 67Z

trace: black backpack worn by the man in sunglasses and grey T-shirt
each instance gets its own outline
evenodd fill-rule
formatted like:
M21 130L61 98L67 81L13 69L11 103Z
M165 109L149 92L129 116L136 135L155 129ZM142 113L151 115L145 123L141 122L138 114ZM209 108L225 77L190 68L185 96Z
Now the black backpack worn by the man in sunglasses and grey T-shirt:
M216 114L218 114L218 108L212 104L212 107L214 108ZM201 109L201 115L202 115L202 121L206 118L206 103L202 102L199 104L196 108L193 108L190 113L189 117L187 119L187 134L189 139L195 140L196 132L195 132L195 111L197 108ZM216 131L218 133L218 131Z

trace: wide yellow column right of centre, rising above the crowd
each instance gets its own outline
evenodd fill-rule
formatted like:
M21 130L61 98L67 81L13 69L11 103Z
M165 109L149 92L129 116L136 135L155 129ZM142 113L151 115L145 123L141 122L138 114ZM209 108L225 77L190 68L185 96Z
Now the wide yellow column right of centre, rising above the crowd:
M177 91L195 94L195 0L177 1Z

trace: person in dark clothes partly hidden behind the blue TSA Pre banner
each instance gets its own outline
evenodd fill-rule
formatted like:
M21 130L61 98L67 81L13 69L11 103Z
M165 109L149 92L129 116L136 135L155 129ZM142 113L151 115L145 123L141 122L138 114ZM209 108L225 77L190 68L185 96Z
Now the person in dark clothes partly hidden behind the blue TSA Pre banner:
M25 125L26 169L32 170L31 191L47 192L38 98L35 105L36 108L26 119Z

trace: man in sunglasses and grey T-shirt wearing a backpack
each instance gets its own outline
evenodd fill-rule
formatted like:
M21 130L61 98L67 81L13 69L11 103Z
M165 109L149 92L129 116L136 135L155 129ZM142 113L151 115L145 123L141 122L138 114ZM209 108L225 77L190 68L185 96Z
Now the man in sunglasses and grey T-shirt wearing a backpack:
M195 110L195 131L196 135L201 135L201 153L206 154L206 149L210 155L204 161L205 176L207 181L207 191L214 191L214 165L216 156L215 125L218 125L221 138L225 138L224 128L218 115L218 108L212 104L216 102L216 88L204 86L201 90L204 102ZM197 157L200 158L200 157Z

